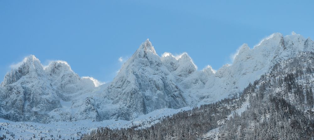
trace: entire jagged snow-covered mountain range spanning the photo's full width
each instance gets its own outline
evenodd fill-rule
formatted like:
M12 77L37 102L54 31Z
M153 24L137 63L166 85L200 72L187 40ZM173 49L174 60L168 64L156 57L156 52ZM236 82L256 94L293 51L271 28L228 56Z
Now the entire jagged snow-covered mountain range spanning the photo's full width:
M131 120L162 108L212 103L240 93L275 64L313 49L310 38L275 33L252 49L243 44L231 65L197 70L187 53L159 56L147 39L113 81L99 87L64 61L43 68L31 55L5 75L0 117L43 123Z

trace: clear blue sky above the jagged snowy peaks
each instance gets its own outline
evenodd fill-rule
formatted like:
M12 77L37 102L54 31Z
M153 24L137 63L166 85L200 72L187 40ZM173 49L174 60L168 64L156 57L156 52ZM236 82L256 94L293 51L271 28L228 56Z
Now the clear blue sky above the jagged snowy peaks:
M231 63L241 44L295 31L314 38L313 1L0 1L0 77L34 54L111 81L147 38L161 56L187 52L198 69Z

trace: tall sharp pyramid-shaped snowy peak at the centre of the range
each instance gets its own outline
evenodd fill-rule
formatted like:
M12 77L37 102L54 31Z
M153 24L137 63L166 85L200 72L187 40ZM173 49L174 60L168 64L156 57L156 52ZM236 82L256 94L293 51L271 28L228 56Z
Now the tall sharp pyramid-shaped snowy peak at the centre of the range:
M130 119L156 109L187 106L182 96L184 91L163 65L149 40L127 60L105 92L122 109L114 114L115 118Z

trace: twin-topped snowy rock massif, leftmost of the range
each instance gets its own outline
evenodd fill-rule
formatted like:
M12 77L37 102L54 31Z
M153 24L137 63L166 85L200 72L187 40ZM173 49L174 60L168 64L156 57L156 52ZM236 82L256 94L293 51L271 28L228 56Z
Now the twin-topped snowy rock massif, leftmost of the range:
M65 62L51 62L44 69L30 55L19 68L8 72L1 83L0 116L14 121L41 122L47 114L65 107L64 102L94 88L92 80L80 78Z

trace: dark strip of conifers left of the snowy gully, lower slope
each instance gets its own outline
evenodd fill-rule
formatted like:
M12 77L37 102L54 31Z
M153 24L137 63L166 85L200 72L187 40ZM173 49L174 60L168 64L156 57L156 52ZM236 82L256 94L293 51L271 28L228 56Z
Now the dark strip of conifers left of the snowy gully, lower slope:
M82 140L198 139L209 130L219 127L217 121L226 119L231 111L236 109L236 106L227 105L241 105L240 100L234 99L235 97L224 99L217 103L179 112L145 129L137 129L138 126L113 130L100 127L84 135Z

